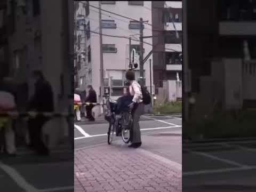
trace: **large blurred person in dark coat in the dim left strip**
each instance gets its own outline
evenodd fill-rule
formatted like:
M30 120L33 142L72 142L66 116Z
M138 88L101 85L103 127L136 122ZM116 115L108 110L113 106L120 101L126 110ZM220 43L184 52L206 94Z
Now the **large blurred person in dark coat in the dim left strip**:
M27 110L38 113L53 112L53 91L50 83L46 81L41 71L34 71L32 76L35 79L35 93L28 103ZM30 145L40 154L49 154L41 139L42 127L49 120L50 117L42 115L29 120Z

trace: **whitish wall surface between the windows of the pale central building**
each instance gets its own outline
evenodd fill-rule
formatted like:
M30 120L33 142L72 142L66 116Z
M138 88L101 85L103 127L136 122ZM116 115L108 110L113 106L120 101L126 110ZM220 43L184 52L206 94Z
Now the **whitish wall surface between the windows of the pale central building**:
M98 2L90 2L91 5L99 7ZM144 6L151 7L151 2L145 1ZM136 20L140 20L140 17L143 20L148 20L148 23L151 22L151 11L142 6L128 5L127 1L121 2L116 1L116 4L101 4L101 8L108 10L110 12L114 12L117 14L124 15L126 17L130 17ZM93 10L93 11L92 11ZM91 30L95 29L95 32L99 33L99 13L98 9L90 7L90 27ZM111 17L108 17L110 15ZM139 34L138 30L129 29L129 19L125 19L119 17L117 15L113 15L111 13L107 13L102 11L102 19L106 20L115 20L117 25L116 29L102 29L102 34L114 35L114 36L126 36ZM146 29L147 28L147 29ZM145 25L145 29L143 30L143 36L151 36L151 26ZM139 40L139 35L135 35L132 38ZM92 57L92 85L99 94L100 87L100 47L99 47L99 35L91 33L91 57ZM152 44L152 38L146 38L143 40L144 42ZM103 44L115 44L117 48L117 53L103 53L103 66L104 70L127 70L129 65L129 39L126 38L116 38L116 37L108 37L102 36ZM139 44L139 42L132 41L132 44ZM143 57L151 51L152 46L144 44L145 53ZM152 59L150 57L149 59ZM150 76L149 76L149 59L144 65L145 73L146 73L146 86L150 86ZM139 61L138 61L139 63ZM152 63L153 65L153 63ZM139 69L139 68L138 68Z

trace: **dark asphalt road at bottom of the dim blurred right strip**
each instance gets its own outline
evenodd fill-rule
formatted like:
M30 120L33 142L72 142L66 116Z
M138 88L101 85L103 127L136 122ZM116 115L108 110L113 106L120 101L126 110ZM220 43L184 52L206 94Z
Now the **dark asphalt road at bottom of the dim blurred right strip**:
M256 191L256 141L182 146L182 191Z

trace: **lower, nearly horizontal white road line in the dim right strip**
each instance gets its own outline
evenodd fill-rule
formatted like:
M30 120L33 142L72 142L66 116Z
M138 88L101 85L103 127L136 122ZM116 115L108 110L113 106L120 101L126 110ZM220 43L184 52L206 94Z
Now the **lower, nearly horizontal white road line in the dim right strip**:
M236 168L218 169L218 170L189 171L189 172L182 172L182 177L190 176L190 175L198 175L198 174L225 173L225 172L231 172L231 171L245 171L245 170L253 170L253 169L256 169L256 166L236 167Z

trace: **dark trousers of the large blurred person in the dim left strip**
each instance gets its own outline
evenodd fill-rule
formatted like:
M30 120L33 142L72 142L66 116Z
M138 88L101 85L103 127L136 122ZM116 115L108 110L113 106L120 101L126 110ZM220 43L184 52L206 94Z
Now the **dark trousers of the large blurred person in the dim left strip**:
M47 154L49 150L42 141L42 127L49 120L47 117L36 117L29 119L30 145L40 154Z

